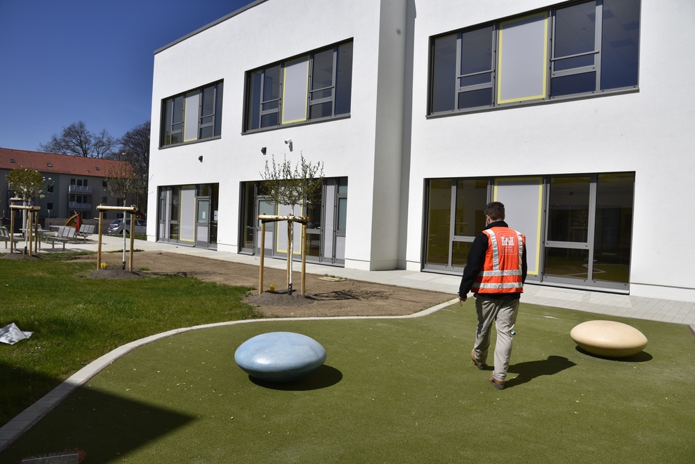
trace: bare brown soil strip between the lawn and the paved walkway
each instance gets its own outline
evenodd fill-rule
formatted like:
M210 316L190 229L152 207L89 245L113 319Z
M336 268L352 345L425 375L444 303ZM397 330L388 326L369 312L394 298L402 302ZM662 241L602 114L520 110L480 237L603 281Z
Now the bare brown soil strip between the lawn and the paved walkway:
M263 271L265 291L258 295L259 267L159 251L137 252L133 256L135 274L122 270L122 254L101 254L106 268L99 270L96 270L96 255L78 256L76 260L94 263L92 276L99 279L139 279L176 274L249 287L253 290L248 293L247 303L257 306L266 317L407 315L453 298L453 295L443 292L332 279L316 274L306 274L306 296L302 297L299 292L300 272L293 273L295 291L288 295L285 272L268 267ZM268 291L270 283L275 284L275 292Z

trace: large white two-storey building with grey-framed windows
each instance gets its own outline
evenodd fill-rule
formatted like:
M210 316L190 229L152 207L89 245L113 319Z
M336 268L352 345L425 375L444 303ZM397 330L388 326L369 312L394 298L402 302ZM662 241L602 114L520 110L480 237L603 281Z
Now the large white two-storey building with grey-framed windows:
M495 199L530 283L695 301L689 19L686 0L255 1L155 53L149 239L258 254L256 215L287 212L265 162L303 155L325 169L315 262L460 274ZM265 243L285 256L284 231Z

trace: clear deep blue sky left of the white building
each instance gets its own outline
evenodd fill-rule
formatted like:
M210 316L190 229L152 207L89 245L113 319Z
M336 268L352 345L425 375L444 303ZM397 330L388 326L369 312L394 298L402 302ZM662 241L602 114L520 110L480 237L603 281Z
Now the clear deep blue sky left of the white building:
M154 51L252 0L0 0L0 147L150 119Z

